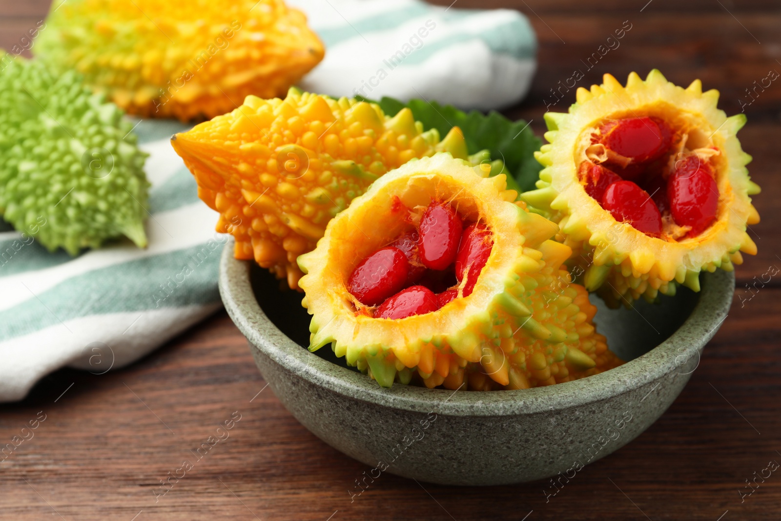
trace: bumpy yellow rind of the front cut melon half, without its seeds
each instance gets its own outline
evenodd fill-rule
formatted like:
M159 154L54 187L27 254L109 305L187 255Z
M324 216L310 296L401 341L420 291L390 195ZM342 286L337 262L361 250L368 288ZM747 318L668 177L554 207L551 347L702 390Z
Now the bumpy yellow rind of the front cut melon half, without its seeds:
M521 389L619 363L594 330L587 292L569 283L562 262L570 248L548 240L555 224L515 204L504 174L484 176L449 154L411 161L331 220L317 248L298 258L307 273L300 284L312 315L310 349L332 344L383 387L414 377L427 387ZM405 319L356 311L350 273L410 226L395 201L415 208L434 198L491 230L494 244L473 293Z

